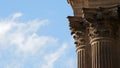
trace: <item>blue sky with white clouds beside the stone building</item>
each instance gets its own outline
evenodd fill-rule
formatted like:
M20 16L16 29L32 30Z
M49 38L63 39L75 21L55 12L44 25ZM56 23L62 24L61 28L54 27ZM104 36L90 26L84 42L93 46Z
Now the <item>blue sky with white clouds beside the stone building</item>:
M0 68L76 68L67 0L1 0L0 9Z

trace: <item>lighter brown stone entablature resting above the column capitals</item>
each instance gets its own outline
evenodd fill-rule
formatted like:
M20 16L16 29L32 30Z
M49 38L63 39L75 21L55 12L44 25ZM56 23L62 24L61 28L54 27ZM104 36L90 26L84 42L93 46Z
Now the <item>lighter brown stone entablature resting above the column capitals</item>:
M120 4L120 0L67 0L75 16L83 16L82 8L110 7Z

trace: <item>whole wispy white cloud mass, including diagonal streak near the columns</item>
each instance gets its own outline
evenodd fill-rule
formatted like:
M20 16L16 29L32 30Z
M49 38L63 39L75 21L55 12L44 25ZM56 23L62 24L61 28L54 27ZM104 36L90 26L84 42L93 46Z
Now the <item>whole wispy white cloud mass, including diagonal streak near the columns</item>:
M0 67L54 68L55 62L65 54L68 45L60 45L57 38L38 33L42 26L48 24L48 20L18 21L22 15L15 13L6 19L0 19L0 60L3 60ZM54 48L54 45L59 47L49 52L47 49Z

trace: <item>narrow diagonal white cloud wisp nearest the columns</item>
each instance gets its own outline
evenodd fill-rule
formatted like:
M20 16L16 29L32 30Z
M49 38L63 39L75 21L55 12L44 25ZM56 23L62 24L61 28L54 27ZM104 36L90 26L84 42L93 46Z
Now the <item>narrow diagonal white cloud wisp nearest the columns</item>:
M44 57L46 63L41 68L54 68L54 63L63 55L67 44L63 44L56 52L48 54Z

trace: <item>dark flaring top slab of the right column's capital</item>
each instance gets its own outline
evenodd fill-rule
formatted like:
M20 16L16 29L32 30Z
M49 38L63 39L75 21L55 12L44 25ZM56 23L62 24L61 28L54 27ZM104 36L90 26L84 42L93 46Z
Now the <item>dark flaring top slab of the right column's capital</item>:
M91 23L97 21L118 21L120 19L119 6L83 8L83 13L85 19Z

